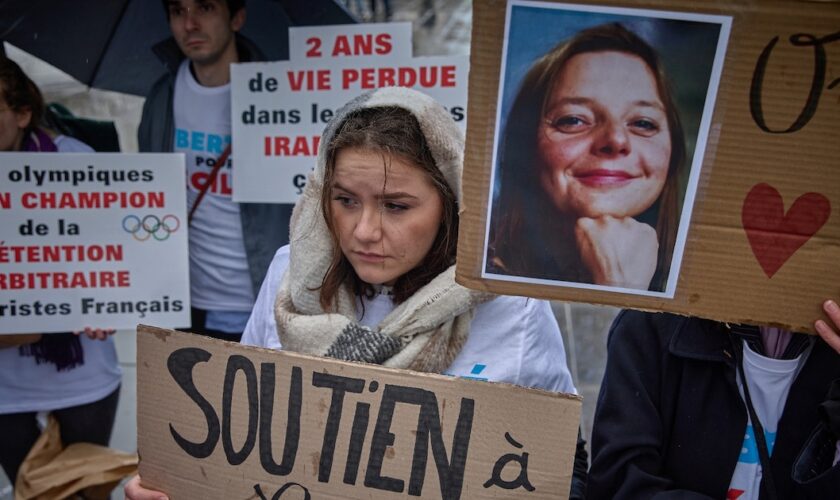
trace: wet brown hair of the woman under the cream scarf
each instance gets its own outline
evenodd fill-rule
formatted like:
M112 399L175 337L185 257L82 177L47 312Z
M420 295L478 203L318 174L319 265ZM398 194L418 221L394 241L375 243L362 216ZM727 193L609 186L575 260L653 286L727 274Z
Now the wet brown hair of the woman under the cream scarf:
M376 107L355 111L336 128L335 135L326 144L326 172L321 192L321 211L333 242L333 254L320 287L321 307L330 309L342 284L350 286L358 297L372 297L372 285L362 281L341 251L338 232L332 222L330 190L335 173L338 152L346 148L363 148L382 155L382 168L387 175L389 163L399 157L423 170L437 188L443 202L443 220L432 247L423 262L397 278L393 300L401 303L435 276L455 263L458 242L458 202L455 193L435 164L426 137L420 130L417 118L398 107ZM387 182L387 177L386 177ZM385 186L383 186L385 189Z

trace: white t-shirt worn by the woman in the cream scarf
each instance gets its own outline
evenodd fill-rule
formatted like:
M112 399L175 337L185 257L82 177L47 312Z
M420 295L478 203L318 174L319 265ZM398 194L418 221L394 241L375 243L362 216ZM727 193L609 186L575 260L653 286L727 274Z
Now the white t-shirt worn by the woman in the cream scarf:
M243 344L281 348L274 301L288 265L287 245L277 251L268 268L242 336ZM364 306L359 322L371 327L395 307L388 295L365 300ZM467 342L444 373L576 394L560 328L544 300L499 296L478 306Z

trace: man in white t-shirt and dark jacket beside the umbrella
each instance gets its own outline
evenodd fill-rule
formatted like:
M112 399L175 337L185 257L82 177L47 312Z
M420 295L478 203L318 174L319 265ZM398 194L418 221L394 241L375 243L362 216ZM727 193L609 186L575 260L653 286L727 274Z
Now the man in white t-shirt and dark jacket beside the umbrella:
M140 150L185 154L188 210L196 207L189 226L190 331L238 341L274 252L288 241L292 209L231 199L234 156L224 158L231 143L230 64L261 56L237 34L244 0L163 5L172 38L154 51L169 72L143 106Z

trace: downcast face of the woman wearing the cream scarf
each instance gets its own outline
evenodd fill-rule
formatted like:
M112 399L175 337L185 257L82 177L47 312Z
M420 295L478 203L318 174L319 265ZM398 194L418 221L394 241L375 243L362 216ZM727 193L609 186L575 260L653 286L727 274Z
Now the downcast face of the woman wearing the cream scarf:
M393 285L417 267L443 218L441 196L419 166L361 148L336 155L330 209L342 253L372 285Z

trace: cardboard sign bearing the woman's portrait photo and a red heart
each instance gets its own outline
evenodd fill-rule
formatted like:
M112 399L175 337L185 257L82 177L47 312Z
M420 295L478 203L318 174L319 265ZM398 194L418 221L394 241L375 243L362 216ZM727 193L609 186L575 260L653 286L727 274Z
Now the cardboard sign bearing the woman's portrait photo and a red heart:
M530 26L534 48L512 53L512 49L528 41L529 35L522 33L521 28L516 31L517 16L527 17L535 11L543 14L539 19L546 23L551 18L552 30L559 35L551 35L552 40L540 39L541 33L549 36L549 30ZM602 107L598 111L601 114L586 115L580 108L593 112L587 108L590 102L563 100L564 93L574 89L570 75L585 76L585 72L567 71L569 61L574 61L572 56L552 76L557 79L548 88L555 93L541 108L543 115L531 120L516 118L522 127L505 128L505 121L514 119L508 116L514 106L505 107L510 101L505 93L519 90L516 82L536 66L539 57L555 45L579 38L578 33L588 33L592 27L600 30L613 23L644 40L657 53L668 90L655 87L651 99L635 98L637 107L623 115L624 121L614 118L618 116L615 107ZM725 32L730 25L727 44ZM840 5L797 1L476 3L458 281L497 293L812 331L813 320L822 316L822 301L837 295L840 282L840 267L836 265L840 259L840 171L833 166L840 156L840 142L835 140L840 114L835 109L837 100L831 98L838 83L832 75L836 73L834 69L840 68L838 26ZM542 53L539 47L543 47ZM555 57L562 57L556 54ZM511 75L510 68L508 73L503 71L502 63L514 56L518 57L518 66L513 71L519 73ZM632 64L626 59L611 64ZM583 60L577 58L578 66ZM715 98L710 89L716 78L715 67L721 60ZM703 73L703 67L709 69ZM692 74L701 76L687 79ZM557 83L560 77L562 84ZM649 83L634 85L629 70L624 78L626 88L637 92L650 87ZM651 74L647 78L656 81ZM676 106L662 103L667 102L666 93ZM703 98L698 101L697 97L689 97L692 93ZM612 97L621 95L625 95L623 90L613 92ZM560 111L551 107L553 102L560 103L556 107ZM683 126L682 142L675 140L672 119L663 122L661 114L644 109L644 104L651 102L654 106L648 108L667 112L676 109ZM579 107L564 111L572 105ZM642 111L638 111L640 106ZM692 108L699 113L690 111ZM713 113L707 115L710 108ZM507 182L503 174L493 177L499 168L499 157L504 155L497 154L496 146L503 144L505 133L527 130L528 123L531 130L539 131L534 137L526 134L531 144L543 144L531 152L524 147L509 149L536 158L534 174L530 176L536 178L535 187L523 190L522 196L529 197L529 202L538 200L529 206L548 208L537 213L511 211L528 228L511 241L499 235L513 233L506 232L504 224L494 220L497 214L505 213L499 207L505 200L500 192ZM591 167L594 173L584 172L586 168L574 163L580 157L573 156L573 150L563 142L591 124L595 124L595 129L606 123L625 126L615 137L630 138L627 144L635 148L632 154L647 161L637 162L636 168L646 169L648 176L655 176L655 166L660 164L651 160L656 151L650 145L652 140L640 146L642 141L634 137L650 139L659 133L659 137L670 137L670 142L660 144L666 153L667 147L675 151L675 144L685 149L682 174L672 181L675 169L669 166L668 177L658 181L659 190L649 191L654 193L653 198L659 196L653 205L639 202L631 207L627 200L632 201L632 196L628 196L612 211L599 211L599 205L575 196L575 186L591 188L590 194L617 193L617 186L633 185L636 180L638 172L629 172L630 168L621 172L625 167L619 166L617 158L621 154L630 157L632 148L625 148L620 141L609 139L598 146L600 149L591 149L599 155L616 155L613 163L592 162L591 165L607 165ZM707 127L709 133L704 136ZM662 135L666 130L669 135ZM550 147L544 147L546 144ZM673 155L670 158L673 160ZM569 175L564 177L564 172ZM619 178L615 172L626 175ZM528 173L522 169L519 175L528 178ZM569 183L572 188L563 184L569 177L577 183ZM659 207L666 205L660 200L669 192L671 182L679 186L676 198L681 217L665 220ZM636 195L647 189L641 184L636 186ZM539 200L548 201L540 205L543 202ZM617 232L615 227L608 228L611 232L607 233L607 225L620 227ZM639 236L645 231L647 236ZM603 276L592 272L598 269L591 265L593 255L597 255L587 248L605 234L611 234L606 241L624 253L655 257L632 261L653 263L651 267L630 269L645 270L645 284L596 284ZM675 236L669 239L663 237L665 234ZM516 264L517 258L526 264L536 262L537 270ZM670 271L663 263L670 264ZM584 272L564 278L566 267ZM661 272L663 268L666 272ZM623 271L632 274L627 273L628 269ZM627 282L632 283L629 278Z

